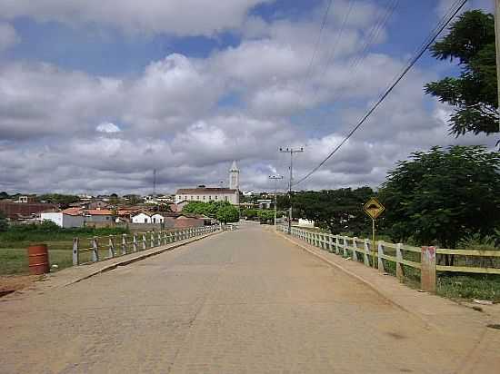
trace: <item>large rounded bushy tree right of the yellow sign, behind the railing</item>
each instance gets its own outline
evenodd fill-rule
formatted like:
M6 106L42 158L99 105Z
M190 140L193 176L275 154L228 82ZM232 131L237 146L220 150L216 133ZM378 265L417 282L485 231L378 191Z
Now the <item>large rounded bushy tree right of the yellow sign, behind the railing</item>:
M380 191L383 226L397 241L455 248L468 235L500 224L500 153L481 146L412 153Z

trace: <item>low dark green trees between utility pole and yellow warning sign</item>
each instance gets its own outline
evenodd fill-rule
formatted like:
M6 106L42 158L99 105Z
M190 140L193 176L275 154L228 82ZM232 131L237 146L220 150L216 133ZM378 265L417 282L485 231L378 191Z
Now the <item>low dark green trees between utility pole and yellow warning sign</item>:
M294 216L313 220L334 234L352 232L360 235L371 227L363 205L373 195L370 187L297 192L292 198Z

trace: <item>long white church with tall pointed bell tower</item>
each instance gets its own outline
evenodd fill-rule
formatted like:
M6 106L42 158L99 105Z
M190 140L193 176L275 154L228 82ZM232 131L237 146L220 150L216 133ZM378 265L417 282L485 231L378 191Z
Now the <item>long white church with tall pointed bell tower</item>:
M175 203L180 202L230 202L240 203L240 171L236 162L229 170L229 188L205 187L181 188L175 192Z

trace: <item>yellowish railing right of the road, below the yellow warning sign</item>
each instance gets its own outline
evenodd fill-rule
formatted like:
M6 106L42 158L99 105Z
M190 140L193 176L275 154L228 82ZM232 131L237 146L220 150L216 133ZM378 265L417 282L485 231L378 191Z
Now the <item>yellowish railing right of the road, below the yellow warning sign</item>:
M287 233L288 227L278 225L276 230ZM376 241L374 246L369 239L334 235L294 226L291 235L322 250L363 262L366 266L373 266L378 271L395 272L400 281L405 278L406 271L420 271L422 290L435 291L436 271L500 274L500 251L413 247L386 241ZM455 260L455 257L460 261L450 261L450 259ZM442 259L446 260L445 265L439 263ZM480 266L476 266L477 264Z

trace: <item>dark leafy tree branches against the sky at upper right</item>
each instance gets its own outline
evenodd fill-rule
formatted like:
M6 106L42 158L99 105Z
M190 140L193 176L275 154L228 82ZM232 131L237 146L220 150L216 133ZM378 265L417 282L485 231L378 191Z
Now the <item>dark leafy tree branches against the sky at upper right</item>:
M461 67L458 78L448 76L425 85L426 94L455 106L450 133L498 132L494 16L480 10L465 12L431 51L439 60L457 60Z

